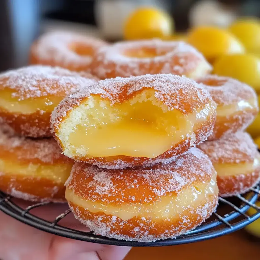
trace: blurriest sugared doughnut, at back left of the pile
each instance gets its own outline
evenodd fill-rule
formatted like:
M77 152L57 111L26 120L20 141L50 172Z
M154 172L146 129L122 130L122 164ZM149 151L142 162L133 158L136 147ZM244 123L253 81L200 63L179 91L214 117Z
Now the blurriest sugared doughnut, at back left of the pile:
M68 31L49 32L31 46L30 64L89 71L93 55L106 45L102 40Z

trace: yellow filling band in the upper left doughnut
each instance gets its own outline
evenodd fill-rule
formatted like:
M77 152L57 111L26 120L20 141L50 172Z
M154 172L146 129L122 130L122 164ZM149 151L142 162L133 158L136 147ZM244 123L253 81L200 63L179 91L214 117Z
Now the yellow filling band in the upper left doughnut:
M61 99L61 97L49 96L19 100L17 97L12 97L11 90L3 90L0 92L0 107L10 113L18 114L33 114L36 111L50 113Z

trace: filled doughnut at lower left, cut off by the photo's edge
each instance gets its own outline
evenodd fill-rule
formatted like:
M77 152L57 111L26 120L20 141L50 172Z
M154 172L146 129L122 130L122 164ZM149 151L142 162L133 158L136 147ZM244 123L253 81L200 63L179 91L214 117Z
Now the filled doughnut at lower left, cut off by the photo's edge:
M16 198L65 201L73 163L54 138L32 140L0 131L0 190Z

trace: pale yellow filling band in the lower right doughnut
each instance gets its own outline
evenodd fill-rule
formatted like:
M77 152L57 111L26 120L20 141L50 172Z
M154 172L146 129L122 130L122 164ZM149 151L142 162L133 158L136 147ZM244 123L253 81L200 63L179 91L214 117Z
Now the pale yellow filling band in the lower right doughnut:
M213 164L218 176L230 176L251 173L260 166L259 158L255 158L252 163L225 163Z

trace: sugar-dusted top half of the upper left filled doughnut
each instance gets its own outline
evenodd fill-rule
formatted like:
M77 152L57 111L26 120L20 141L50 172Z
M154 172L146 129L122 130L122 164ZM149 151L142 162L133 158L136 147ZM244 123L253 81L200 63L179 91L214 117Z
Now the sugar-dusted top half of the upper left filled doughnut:
M34 65L1 73L0 90L11 89L12 97L18 100L51 95L64 97L96 81L89 73Z

